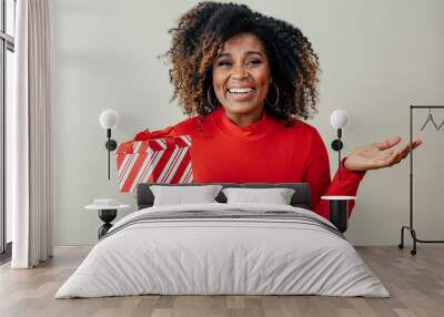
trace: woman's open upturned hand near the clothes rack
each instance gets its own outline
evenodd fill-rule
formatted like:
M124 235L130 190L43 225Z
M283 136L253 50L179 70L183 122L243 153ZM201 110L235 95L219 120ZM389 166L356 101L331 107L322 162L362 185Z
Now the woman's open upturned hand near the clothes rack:
M364 172L393 166L400 163L410 153L408 143L398 151L392 149L400 142L400 136L392 136L383 142L360 146L345 160L345 168L354 172ZM421 139L414 140L412 142L412 150L420 146L422 143Z

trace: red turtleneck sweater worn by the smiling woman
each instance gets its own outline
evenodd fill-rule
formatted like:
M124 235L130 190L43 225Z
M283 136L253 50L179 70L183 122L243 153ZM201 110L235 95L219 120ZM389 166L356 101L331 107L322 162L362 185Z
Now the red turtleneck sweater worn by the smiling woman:
M310 183L311 209L329 217L323 195L355 196L364 173L345 168L341 161L331 181L329 155L317 130L295 120L292 126L263 112L250 125L239 127L222 106L200 123L198 116L164 129L172 135L191 135L191 164L195 183ZM349 205L351 212L354 202Z

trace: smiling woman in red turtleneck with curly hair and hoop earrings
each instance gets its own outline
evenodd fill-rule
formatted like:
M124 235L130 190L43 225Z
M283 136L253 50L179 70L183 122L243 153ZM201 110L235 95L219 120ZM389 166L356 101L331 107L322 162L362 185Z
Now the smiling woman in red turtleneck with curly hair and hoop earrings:
M393 149L398 136L357 147L331 181L325 145L301 120L316 111L317 55L291 24L243 4L201 2L170 33L173 99L196 115L164 131L191 135L195 183L307 182L311 208L327 217L322 195L354 196L366 171L408 154L408 144Z

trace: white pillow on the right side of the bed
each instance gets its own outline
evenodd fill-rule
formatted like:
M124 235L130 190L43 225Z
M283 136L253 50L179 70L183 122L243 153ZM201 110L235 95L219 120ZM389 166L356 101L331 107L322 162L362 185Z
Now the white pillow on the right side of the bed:
M274 205L290 205L294 194L291 188L242 188L228 187L222 193L226 196L226 203L261 203Z

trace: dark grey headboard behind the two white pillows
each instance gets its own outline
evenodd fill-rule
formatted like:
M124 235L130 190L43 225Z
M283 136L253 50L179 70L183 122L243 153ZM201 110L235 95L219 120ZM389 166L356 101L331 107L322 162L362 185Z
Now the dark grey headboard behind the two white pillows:
M244 188L293 188L295 190L290 204L294 207L301 207L310 209L310 184L309 183L282 183L282 184L265 184L265 183L248 183L248 184L234 184L234 183L210 183L210 184L152 184L141 183L137 185L137 202L138 209L151 207L154 203L154 195L150 190L151 185L162 186L202 186L202 185L222 185L223 187L244 187ZM215 197L219 203L226 203L226 197L222 193Z

